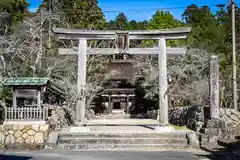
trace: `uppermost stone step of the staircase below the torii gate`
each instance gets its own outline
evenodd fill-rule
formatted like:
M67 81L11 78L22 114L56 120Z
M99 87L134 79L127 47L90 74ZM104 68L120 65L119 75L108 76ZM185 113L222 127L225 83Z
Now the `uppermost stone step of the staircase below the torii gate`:
M175 138L185 139L186 133L60 133L59 138Z

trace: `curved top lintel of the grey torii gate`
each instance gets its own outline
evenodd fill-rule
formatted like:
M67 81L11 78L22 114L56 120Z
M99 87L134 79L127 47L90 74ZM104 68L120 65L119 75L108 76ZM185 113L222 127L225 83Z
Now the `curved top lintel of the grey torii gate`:
M85 38L87 40L115 40L116 33L123 31L115 30L81 30L81 29L67 29L54 28L54 33L58 35L59 39L79 39ZM172 28L162 30L137 30L127 31L129 39L138 40L152 40L152 39L184 39L190 33L190 27ZM126 31L124 31L125 33Z

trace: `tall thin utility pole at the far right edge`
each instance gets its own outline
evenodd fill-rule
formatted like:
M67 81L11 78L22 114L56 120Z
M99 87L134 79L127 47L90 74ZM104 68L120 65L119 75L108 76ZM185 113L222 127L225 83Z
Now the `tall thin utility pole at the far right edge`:
M238 110L237 105L237 65L236 65L236 35L235 35L235 2L232 0L232 65L233 65L233 108Z

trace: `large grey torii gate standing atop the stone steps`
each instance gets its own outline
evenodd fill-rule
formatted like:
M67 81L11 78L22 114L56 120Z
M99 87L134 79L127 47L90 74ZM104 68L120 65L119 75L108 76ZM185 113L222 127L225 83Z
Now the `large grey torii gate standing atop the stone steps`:
M78 55L77 90L80 94L86 85L87 55L158 55L159 65L159 125L168 126L168 88L166 55L185 54L185 48L167 48L168 39L185 39L191 31L189 27L150 31L81 30L54 28L58 39L79 40L78 48L59 48L59 54ZM116 48L88 48L87 40L115 40ZM129 48L129 40L158 40L157 48ZM85 97L76 102L76 122L84 123Z

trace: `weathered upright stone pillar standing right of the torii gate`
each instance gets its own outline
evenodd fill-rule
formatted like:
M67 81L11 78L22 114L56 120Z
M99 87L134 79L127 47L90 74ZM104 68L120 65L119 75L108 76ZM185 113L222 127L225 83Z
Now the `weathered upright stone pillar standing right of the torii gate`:
M219 60L213 55L210 59L210 116L219 118Z

